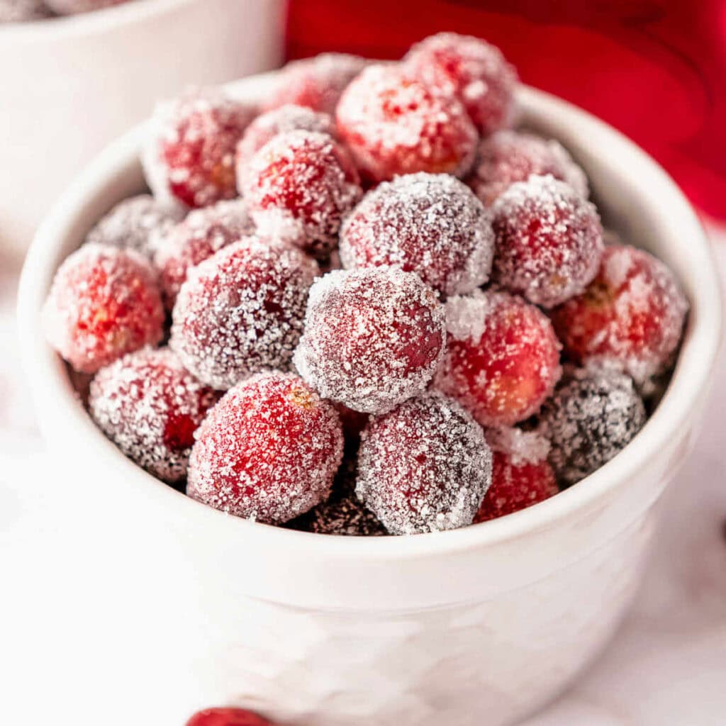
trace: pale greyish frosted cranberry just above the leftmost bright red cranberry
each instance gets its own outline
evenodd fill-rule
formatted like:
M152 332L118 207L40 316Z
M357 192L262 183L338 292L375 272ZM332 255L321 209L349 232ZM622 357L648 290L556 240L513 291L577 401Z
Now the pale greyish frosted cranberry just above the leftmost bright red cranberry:
M184 219L184 207L150 194L129 197L107 212L86 235L86 243L136 250L152 258L155 234L164 234Z

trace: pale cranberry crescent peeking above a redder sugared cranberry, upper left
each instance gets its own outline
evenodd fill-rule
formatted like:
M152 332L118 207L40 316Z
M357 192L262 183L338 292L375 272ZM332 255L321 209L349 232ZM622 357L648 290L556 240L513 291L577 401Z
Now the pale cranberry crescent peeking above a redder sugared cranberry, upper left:
M286 134L287 131L317 131L335 136L335 123L330 114L293 104L259 115L245 129L237 144L237 186L241 186L253 156L277 134Z

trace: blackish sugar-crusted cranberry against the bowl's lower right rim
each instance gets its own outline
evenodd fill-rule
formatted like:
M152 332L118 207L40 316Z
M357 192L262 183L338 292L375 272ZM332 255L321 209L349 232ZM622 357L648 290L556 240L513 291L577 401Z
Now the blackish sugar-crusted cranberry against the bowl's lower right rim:
M629 376L613 370L568 372L544 404L539 432L550 440L550 464L568 486L611 460L645 423Z

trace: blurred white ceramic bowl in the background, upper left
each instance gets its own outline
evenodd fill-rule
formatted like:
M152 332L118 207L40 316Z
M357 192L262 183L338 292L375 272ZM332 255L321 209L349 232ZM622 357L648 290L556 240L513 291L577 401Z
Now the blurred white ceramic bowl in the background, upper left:
M25 251L108 142L187 85L274 68L282 0L134 0L0 25L0 251Z

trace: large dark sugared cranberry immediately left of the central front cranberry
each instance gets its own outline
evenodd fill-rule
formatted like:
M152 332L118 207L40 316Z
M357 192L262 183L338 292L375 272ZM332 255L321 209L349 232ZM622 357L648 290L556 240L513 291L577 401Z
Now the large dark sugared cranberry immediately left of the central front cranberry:
M213 388L285 367L315 274L317 265L300 250L245 237L189 272L176 298L169 346Z

